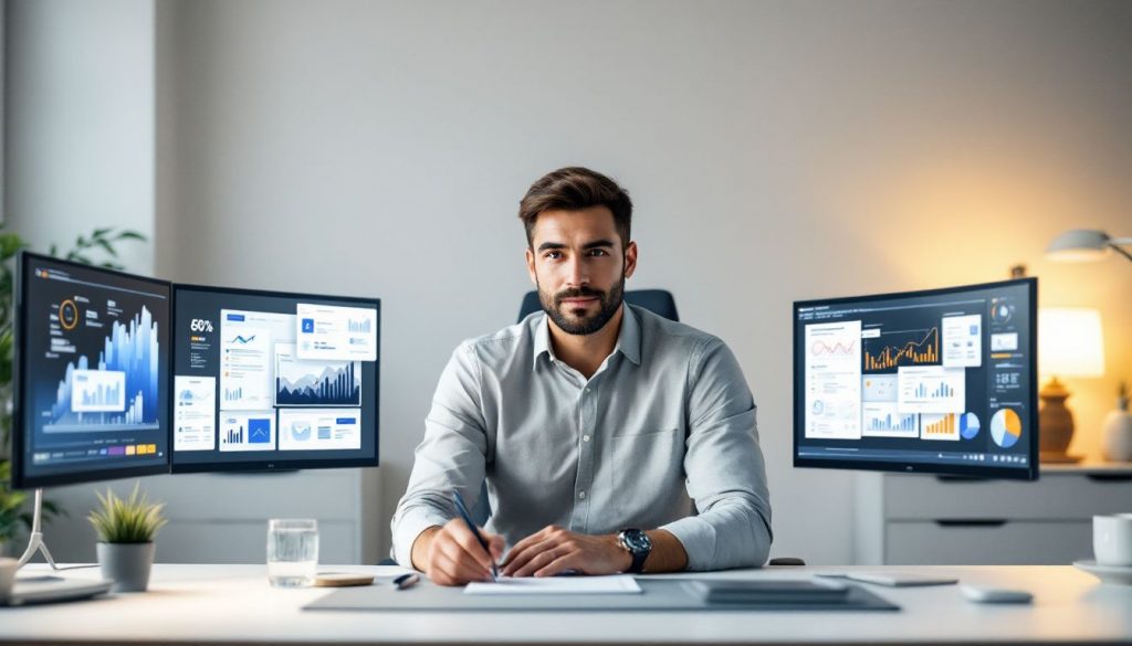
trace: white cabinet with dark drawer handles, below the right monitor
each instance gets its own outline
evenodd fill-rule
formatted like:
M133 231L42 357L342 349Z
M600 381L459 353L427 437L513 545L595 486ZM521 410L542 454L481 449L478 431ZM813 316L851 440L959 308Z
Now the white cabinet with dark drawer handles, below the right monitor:
M1043 466L1036 482L859 474L863 565L1066 565L1092 516L1132 511L1132 465Z

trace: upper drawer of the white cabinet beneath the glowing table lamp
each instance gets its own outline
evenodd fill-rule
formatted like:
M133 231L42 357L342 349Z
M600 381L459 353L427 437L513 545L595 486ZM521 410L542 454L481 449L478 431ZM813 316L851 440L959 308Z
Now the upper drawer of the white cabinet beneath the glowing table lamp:
M1095 514L1132 511L1132 477L1055 474L1036 482L884 479L887 520L1091 520Z

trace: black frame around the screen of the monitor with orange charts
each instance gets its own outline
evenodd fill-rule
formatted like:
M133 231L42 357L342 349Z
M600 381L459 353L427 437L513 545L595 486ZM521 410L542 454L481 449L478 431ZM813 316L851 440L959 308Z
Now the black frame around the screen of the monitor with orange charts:
M817 307L817 305L844 305L852 304L861 301L891 301L897 299L908 299L908 298L920 298L920 296L937 296L947 295L960 292L968 292L972 290L994 290L997 287L1027 287L1029 295L1029 316L1030 321L1032 321L1032 331L1030 335L1029 352L1032 358L1032 382L1030 388L1030 450L1029 450L1029 463L1024 468L1020 467L994 467L994 466L975 466L975 465L932 465L932 464L917 464L917 463L900 463L900 462L878 462L878 460L841 460L841 459L817 459L817 458L805 458L799 457L799 439L803 432L801 429L805 428L805 402L801 395L801 387L799 386L799 379L804 379L805 376L805 361L798 353L798 310L801 308ZM792 454L794 454L794 466L805 467L805 468L837 468L837 470L849 470L849 471L881 471L881 472L892 472L892 473L915 473L915 474L929 474L929 475L947 475L947 476L967 476L974 479L1001 479L1001 480L1026 480L1032 481L1038 479L1039 474L1039 460L1038 460L1038 279L1036 277L1026 278L1013 278L1010 281L997 281L992 283L978 283L972 285L960 285L955 287L940 287L933 290L918 290L910 292L889 292L883 294L869 294L861 296L846 296L846 298L834 298L834 299L809 299L805 301L795 301L794 308L791 310L792 318L790 320L791 329L791 356L792 356L792 385L794 385L794 429L792 429Z

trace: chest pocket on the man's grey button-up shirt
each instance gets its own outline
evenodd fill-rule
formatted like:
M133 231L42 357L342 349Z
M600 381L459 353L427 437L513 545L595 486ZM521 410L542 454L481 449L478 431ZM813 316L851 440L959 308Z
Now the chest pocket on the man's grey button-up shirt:
M610 438L615 505L626 520L649 516L684 486L684 433L675 427Z

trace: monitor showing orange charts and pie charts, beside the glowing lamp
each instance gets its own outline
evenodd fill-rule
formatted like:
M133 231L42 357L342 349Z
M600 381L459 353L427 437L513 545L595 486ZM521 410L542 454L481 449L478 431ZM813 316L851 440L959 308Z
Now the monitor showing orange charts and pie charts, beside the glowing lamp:
M794 304L794 464L1032 480L1037 281Z

